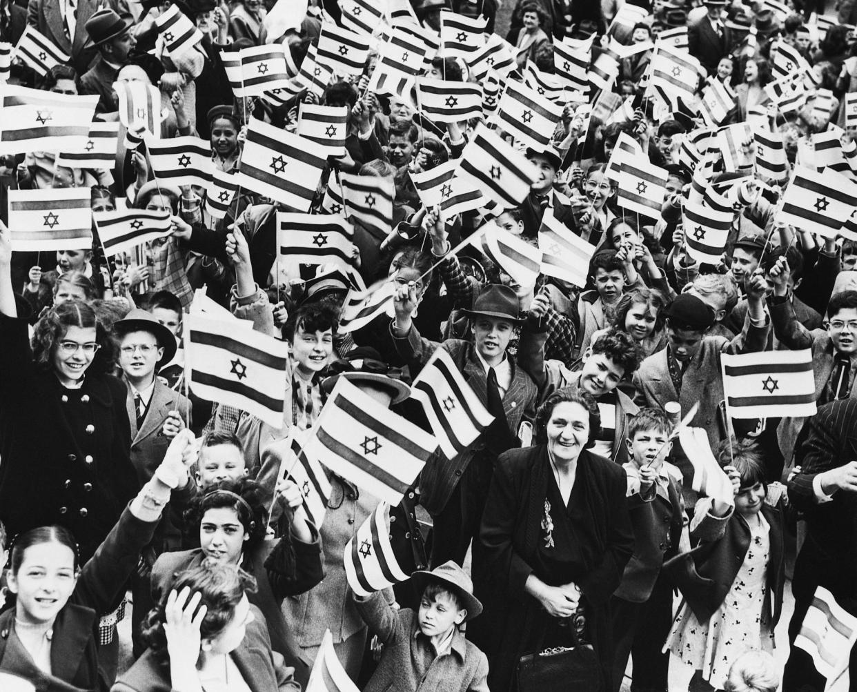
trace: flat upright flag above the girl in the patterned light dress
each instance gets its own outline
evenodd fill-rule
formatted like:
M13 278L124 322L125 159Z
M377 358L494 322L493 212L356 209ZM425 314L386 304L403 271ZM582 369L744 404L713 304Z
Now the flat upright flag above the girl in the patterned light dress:
M723 396L731 418L816 414L812 351L722 355Z

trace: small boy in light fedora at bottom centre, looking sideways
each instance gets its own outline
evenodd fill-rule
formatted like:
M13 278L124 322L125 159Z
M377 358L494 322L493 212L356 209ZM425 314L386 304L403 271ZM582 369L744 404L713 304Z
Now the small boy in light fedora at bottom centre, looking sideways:
M482 612L470 577L449 561L414 572L411 582L420 594L417 612L394 611L381 592L366 599L354 596L369 629L384 643L366 692L488 690L488 659L459 629Z

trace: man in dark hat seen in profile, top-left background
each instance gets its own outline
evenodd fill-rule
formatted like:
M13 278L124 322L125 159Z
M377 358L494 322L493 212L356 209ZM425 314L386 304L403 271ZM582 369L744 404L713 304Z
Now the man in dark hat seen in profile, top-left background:
M81 75L81 93L101 97L98 113L111 113L118 108L113 82L119 70L129 63L129 54L136 45L132 27L130 21L110 8L99 9L86 22L89 39L99 56L92 68Z

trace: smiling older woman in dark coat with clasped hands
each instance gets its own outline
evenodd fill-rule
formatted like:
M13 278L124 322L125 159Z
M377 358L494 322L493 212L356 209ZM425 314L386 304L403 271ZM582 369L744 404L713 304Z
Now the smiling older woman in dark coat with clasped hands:
M625 472L588 450L600 425L589 395L558 391L536 415L540 444L497 461L473 558L475 595L485 608L467 631L488 655L494 692L518 689L524 654L570 646L568 618L578 611L603 689L612 689L608 602L634 538Z

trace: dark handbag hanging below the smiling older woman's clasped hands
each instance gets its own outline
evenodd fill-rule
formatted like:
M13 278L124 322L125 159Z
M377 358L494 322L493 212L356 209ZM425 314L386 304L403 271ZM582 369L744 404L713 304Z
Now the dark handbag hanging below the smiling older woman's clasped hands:
M527 653L518 661L519 692L602 692L601 662L591 644L583 641L585 618L578 610L568 618L573 646Z

